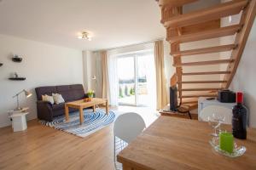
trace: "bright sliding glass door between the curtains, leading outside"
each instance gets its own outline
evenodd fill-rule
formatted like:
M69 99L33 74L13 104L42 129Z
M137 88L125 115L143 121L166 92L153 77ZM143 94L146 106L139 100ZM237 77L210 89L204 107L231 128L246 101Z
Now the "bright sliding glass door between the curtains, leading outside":
M118 58L119 105L155 105L155 68L152 51Z

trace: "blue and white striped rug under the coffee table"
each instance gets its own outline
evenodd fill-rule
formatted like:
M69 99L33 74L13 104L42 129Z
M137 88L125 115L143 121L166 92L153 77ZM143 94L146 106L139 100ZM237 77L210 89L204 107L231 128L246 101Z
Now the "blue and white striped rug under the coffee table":
M53 122L42 120L39 122L45 126L54 127L55 129L84 138L113 122L115 118L113 111L109 111L108 115L105 113L105 110L102 109L96 109L96 112L84 110L84 123L82 125L80 125L79 121L79 112L70 113L69 122L66 122L65 116L57 116Z

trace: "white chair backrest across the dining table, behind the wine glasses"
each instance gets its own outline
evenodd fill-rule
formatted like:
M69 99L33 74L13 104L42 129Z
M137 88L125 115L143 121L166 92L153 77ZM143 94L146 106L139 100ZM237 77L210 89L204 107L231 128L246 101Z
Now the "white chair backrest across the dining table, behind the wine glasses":
M232 110L219 105L209 105L205 107L200 113L201 121L207 122L208 116L212 116L212 114L225 116L224 124L232 123Z

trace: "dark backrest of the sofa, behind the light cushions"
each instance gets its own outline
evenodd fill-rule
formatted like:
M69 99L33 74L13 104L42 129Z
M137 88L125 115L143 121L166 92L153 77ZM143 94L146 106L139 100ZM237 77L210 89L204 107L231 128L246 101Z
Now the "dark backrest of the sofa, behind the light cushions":
M36 88L38 100L42 100L42 95L61 94L65 101L84 99L84 88L82 84L46 86Z

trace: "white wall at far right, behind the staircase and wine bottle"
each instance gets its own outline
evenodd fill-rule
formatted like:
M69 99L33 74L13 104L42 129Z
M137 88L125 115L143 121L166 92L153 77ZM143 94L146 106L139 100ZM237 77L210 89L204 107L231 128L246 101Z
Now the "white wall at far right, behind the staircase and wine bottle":
M228 2L229 0L222 0L222 2ZM221 26L230 26L238 24L241 18L241 14L232 15L231 17L225 17L221 20ZM233 43L235 36L222 37L220 43L229 44ZM247 106L249 111L249 126L256 127L256 58L255 58L255 44L256 44L256 22L254 20L253 27L247 39L246 47L244 48L241 60L236 70L235 77L230 84L230 89L237 92L244 93L244 105ZM222 59L230 57L230 52L222 52ZM222 69L226 69L222 68Z

